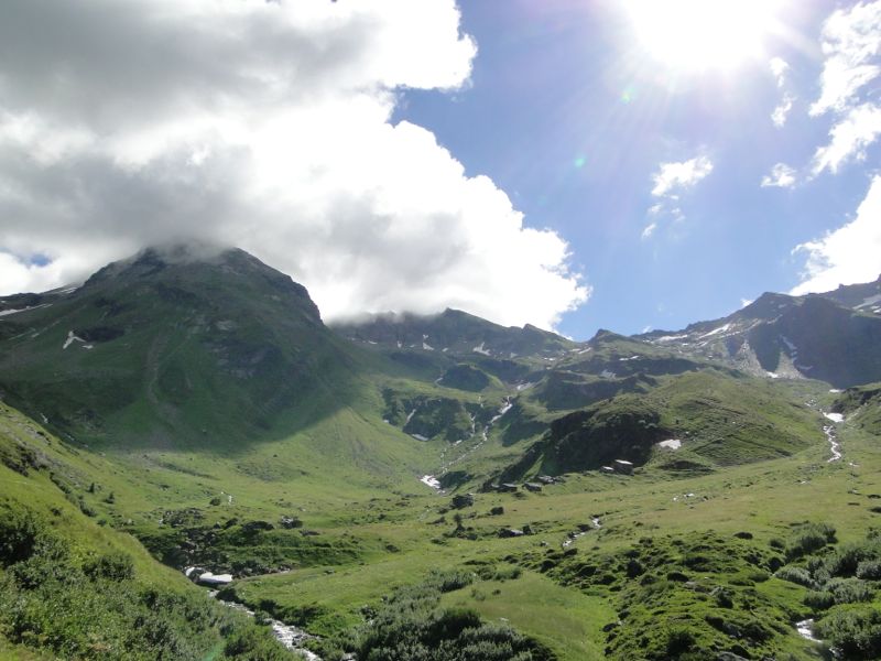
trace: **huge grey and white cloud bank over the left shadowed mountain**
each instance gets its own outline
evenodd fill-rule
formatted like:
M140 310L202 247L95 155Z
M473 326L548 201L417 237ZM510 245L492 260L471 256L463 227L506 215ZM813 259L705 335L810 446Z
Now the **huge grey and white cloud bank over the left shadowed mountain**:
M589 295L559 236L391 123L400 90L469 84L454 0L10 1L4 293L204 238L290 273L326 318L453 306L551 327Z

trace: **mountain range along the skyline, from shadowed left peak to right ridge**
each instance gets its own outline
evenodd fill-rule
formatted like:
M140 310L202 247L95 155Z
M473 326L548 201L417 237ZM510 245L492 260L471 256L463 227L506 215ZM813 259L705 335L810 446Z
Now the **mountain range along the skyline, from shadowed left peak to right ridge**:
M788 395L759 382L881 381L881 280L763 294L683 330L600 330L583 343L455 310L328 328L302 285L235 249L152 248L79 288L0 300L3 399L59 433L108 446L229 448L350 408L385 421L385 435L465 442L436 469L458 481L611 458L641 465L662 437L714 429L693 457L703 469L801 444L785 426L803 421L772 415L774 405L764 418L757 404L755 429L719 423L741 415L749 379L765 402ZM554 422L566 415L574 416ZM749 430L759 447L738 445ZM469 467L493 445L487 440L510 449ZM318 443L317 452L328 447ZM395 454L385 454L391 466Z

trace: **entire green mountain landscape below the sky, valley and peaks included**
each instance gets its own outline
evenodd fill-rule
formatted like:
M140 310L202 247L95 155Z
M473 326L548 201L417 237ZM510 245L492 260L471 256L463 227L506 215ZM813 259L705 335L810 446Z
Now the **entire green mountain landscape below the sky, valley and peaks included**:
M327 327L186 245L0 299L0 657L283 658L193 566L325 660L816 659L808 618L871 642L877 292L583 343Z

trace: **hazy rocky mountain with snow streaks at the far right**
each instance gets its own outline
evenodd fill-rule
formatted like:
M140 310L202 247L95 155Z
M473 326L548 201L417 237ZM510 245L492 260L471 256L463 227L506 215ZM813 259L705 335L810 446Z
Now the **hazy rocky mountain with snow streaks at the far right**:
M635 336L755 376L848 388L881 380L881 280L825 294L762 294L727 317Z

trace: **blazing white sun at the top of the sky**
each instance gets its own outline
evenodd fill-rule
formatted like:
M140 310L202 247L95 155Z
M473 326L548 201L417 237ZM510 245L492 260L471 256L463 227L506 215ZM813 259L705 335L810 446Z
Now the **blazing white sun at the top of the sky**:
M730 69L763 54L781 0L627 0L638 45L677 71Z

